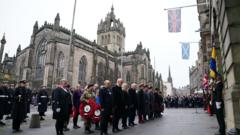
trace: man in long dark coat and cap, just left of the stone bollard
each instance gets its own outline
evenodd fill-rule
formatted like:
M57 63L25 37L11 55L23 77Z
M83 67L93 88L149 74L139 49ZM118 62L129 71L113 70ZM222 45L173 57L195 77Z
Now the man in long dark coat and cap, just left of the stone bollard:
M16 88L13 96L13 110L12 110L12 129L13 132L21 132L20 124L26 116L27 110L27 89L26 81L19 82L19 87Z

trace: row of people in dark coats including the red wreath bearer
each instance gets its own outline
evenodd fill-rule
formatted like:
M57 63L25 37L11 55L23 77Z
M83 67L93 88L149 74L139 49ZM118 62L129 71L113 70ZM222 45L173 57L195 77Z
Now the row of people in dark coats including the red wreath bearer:
M71 94L68 82L62 80L52 94L53 118L56 119L57 135L63 134L64 124L68 123L71 114L73 114L73 128L80 128L77 121L81 115L85 133L94 132L91 129L94 123L95 129L100 130L101 135L108 134L109 123L112 124L113 133L120 132L120 119L122 129L135 126L136 114L138 114L139 123L161 117L163 97L159 89L154 90L144 84L138 87L137 90L137 84L133 83L129 88L122 79L118 79L116 85L112 87L111 82L105 80L100 88L98 84L89 84L81 90L78 85ZM73 97L73 104L69 102L69 95Z

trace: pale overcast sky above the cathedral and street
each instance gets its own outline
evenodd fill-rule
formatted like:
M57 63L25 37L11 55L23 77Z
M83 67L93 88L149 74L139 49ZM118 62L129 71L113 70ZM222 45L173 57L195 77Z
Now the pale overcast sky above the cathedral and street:
M70 29L74 0L0 0L0 37L6 33L5 52L13 56L18 44L25 48L30 43L35 21L53 23L60 13L60 25ZM168 33L167 11L164 8L196 4L196 0L78 0L75 18L76 33L94 40L97 25L110 12L112 4L117 18L126 28L125 48L134 50L142 41L149 48L152 64L163 79L171 66L175 87L189 84L189 67L197 59L198 44L191 44L190 59L181 59L179 42L198 42L197 8L182 9L182 32ZM154 64L153 64L154 65Z

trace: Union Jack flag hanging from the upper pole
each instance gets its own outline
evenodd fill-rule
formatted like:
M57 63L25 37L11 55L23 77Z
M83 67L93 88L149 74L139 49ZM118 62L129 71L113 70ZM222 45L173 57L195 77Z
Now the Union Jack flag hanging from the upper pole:
M181 32L181 9L168 10L168 31Z

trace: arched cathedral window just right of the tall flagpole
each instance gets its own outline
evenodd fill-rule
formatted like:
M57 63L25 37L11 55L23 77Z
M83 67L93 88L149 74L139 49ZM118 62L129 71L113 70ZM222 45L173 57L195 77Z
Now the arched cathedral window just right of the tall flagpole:
M85 82L86 78L86 67L87 67L87 59L85 56L82 56L79 62L79 68L78 68L78 80L80 82Z

